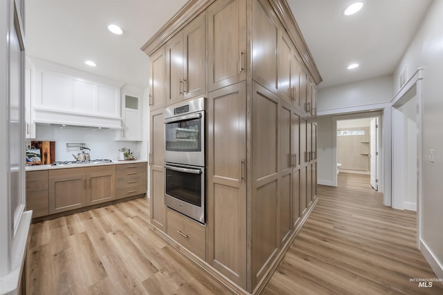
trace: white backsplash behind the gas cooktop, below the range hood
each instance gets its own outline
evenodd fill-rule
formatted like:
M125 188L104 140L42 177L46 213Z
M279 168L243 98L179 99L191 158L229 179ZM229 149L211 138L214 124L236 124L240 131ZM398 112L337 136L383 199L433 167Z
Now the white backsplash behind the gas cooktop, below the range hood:
M146 142L127 142L116 141L115 129L77 129L37 124L35 140L48 140L55 142L55 160L72 161L72 154L77 155L80 152L78 148L67 147L66 143L84 143L91 151L91 159L110 159L118 160L121 148L130 149L139 160L147 160ZM26 140L26 146L30 140Z

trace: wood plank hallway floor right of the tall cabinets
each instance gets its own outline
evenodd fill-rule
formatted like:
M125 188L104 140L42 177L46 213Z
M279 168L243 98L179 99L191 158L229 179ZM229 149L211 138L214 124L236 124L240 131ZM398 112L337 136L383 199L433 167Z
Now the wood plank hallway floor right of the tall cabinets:
M416 214L383 206L369 175L338 174L318 186L318 204L265 294L443 294L416 248Z

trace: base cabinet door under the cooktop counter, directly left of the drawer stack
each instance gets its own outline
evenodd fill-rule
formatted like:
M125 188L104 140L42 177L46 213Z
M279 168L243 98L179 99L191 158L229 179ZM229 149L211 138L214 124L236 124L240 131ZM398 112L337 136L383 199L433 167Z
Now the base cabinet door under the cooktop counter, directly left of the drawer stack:
M87 205L99 204L116 199L115 167L103 166L102 172L87 175ZM100 167L101 168L101 167Z

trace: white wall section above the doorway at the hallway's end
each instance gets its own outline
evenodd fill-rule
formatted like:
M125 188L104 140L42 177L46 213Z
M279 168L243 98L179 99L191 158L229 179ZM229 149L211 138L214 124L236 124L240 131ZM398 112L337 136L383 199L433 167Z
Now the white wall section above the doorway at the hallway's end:
M317 93L318 114L346 113L356 107L386 104L393 96L392 75L375 77L328 88L320 88Z

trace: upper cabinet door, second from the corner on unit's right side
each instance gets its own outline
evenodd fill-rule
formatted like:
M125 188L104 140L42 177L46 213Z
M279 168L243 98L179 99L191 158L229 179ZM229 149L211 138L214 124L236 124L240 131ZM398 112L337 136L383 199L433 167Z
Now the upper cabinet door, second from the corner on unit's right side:
M292 41L283 29L280 30L278 41L278 93L280 97L291 103L295 95L295 87L291 85Z

